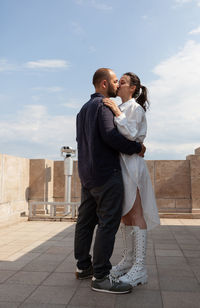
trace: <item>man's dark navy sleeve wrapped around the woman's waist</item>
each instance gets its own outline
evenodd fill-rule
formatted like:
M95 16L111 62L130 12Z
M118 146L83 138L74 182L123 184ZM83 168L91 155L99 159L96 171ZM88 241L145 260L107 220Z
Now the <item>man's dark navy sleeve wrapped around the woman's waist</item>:
M102 139L116 151L129 155L141 152L140 143L130 141L119 133L114 125L113 113L105 105L99 107L98 124Z

